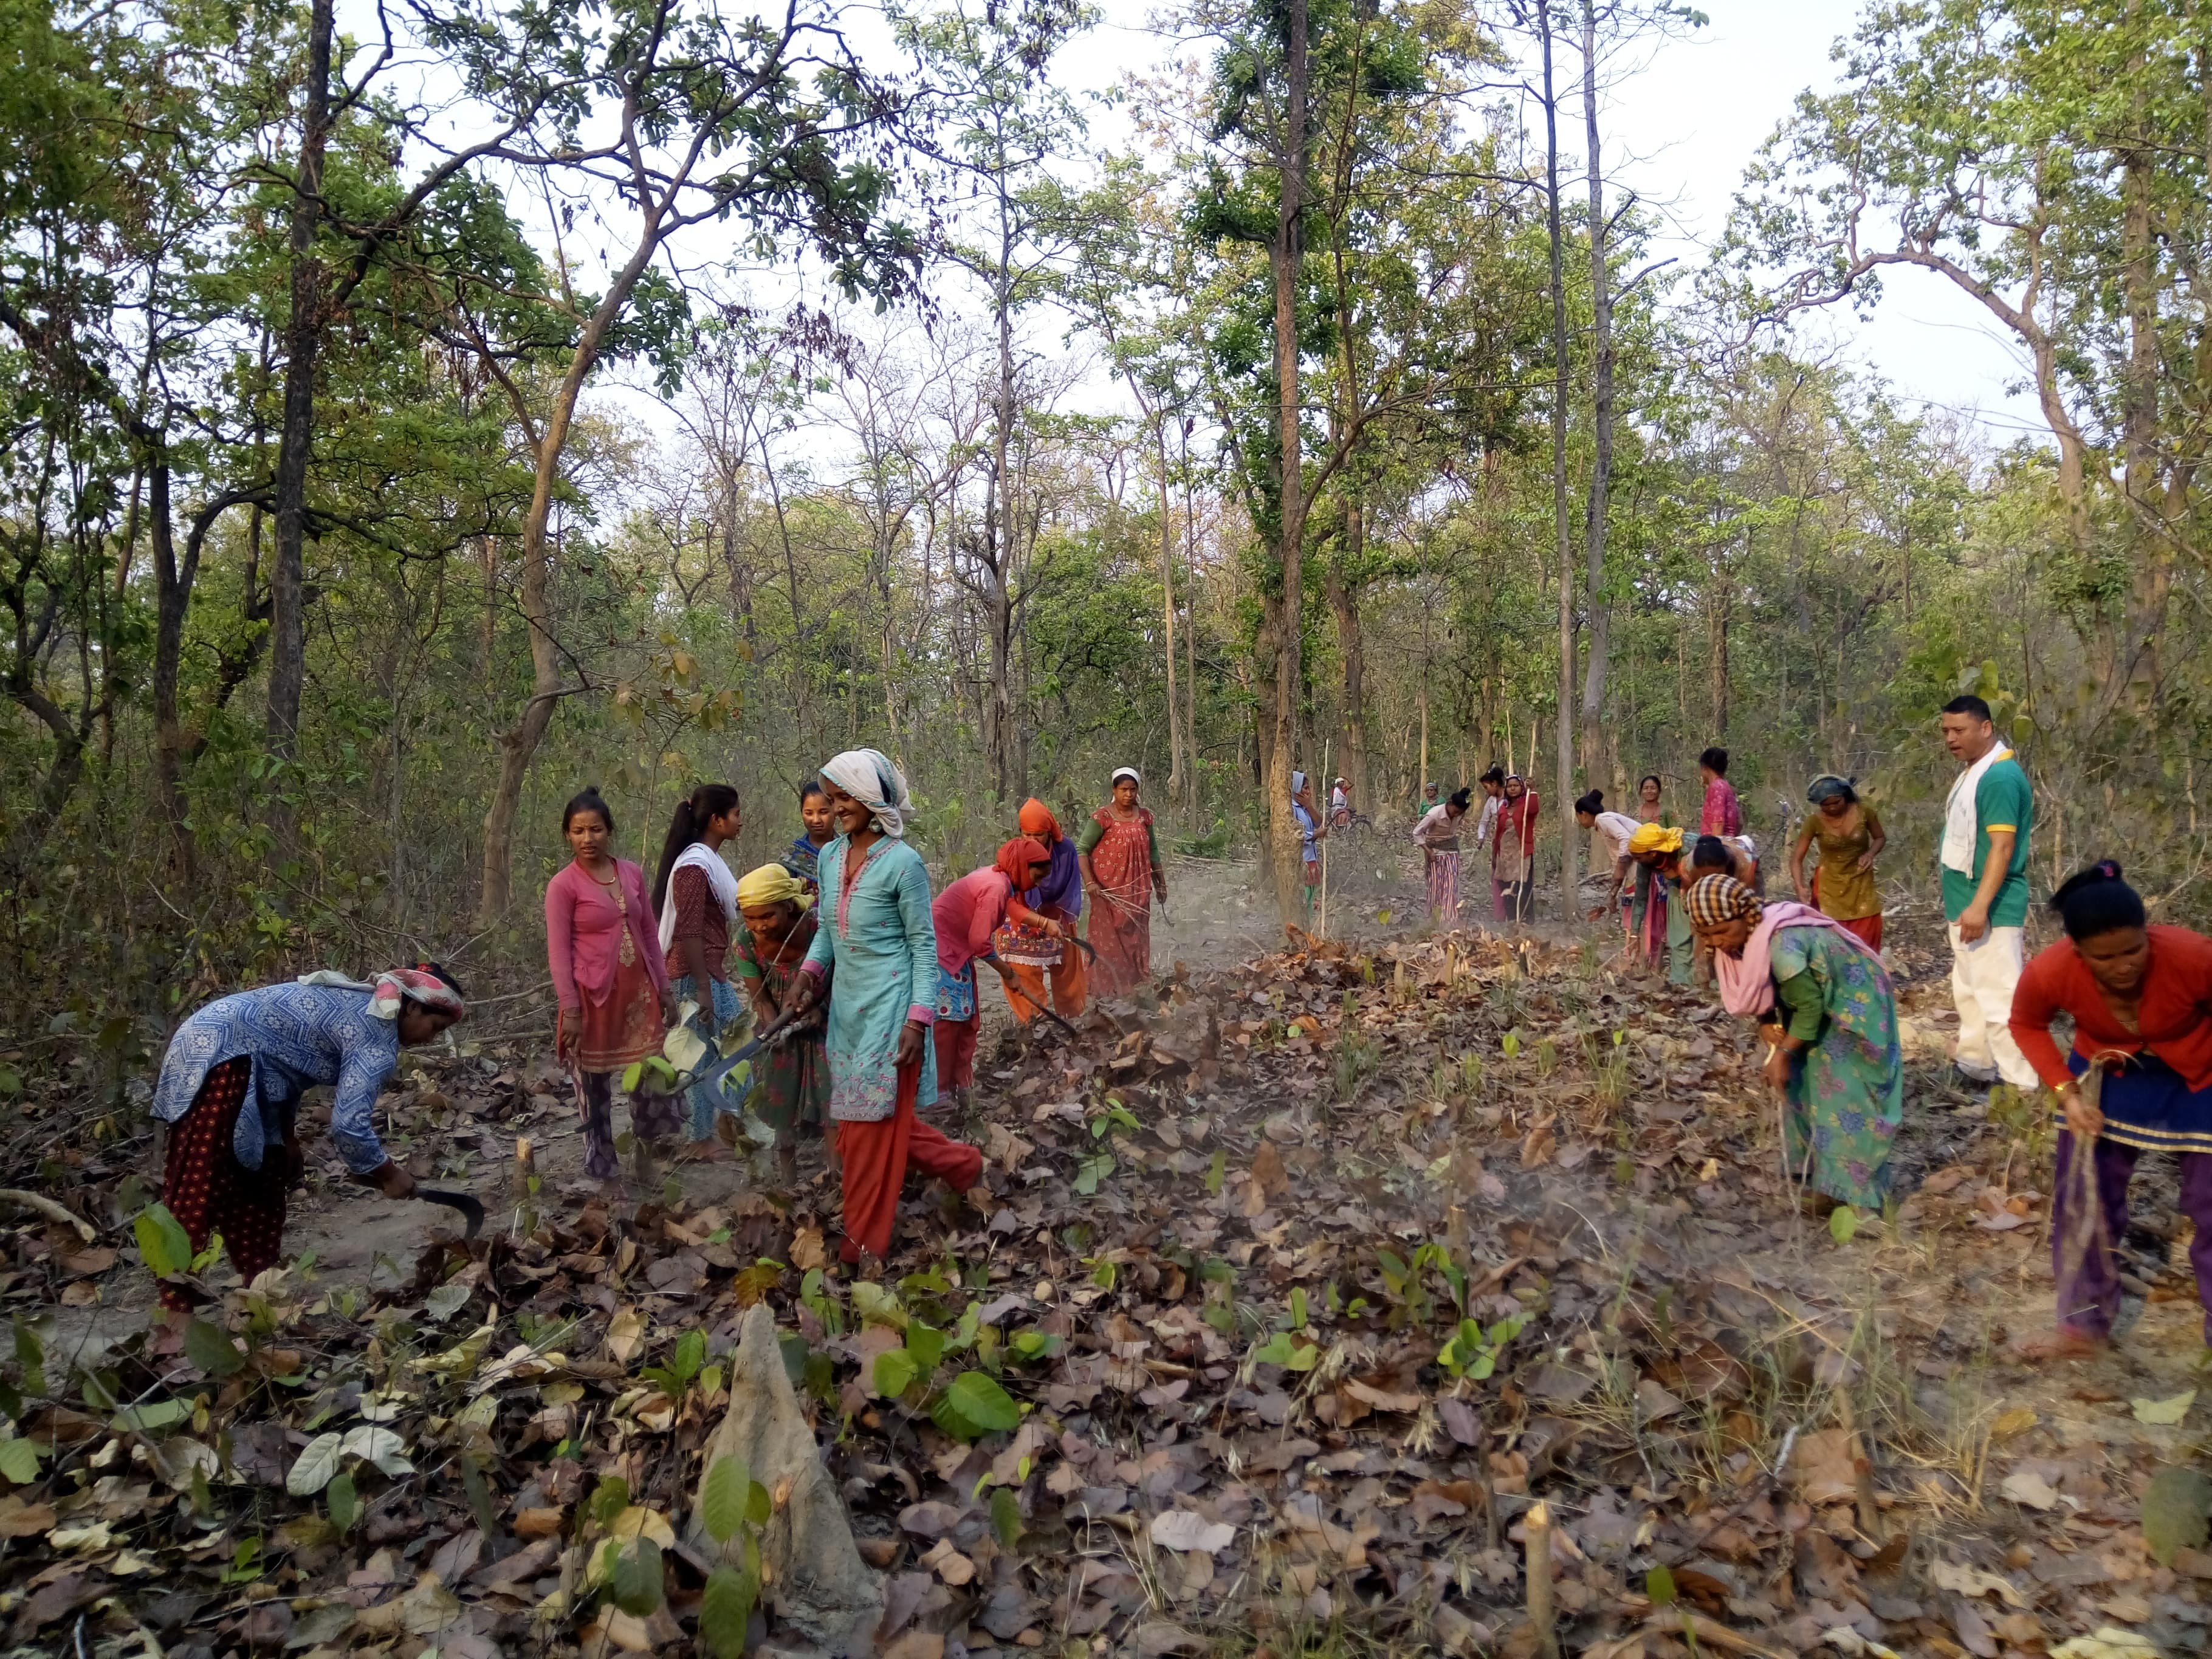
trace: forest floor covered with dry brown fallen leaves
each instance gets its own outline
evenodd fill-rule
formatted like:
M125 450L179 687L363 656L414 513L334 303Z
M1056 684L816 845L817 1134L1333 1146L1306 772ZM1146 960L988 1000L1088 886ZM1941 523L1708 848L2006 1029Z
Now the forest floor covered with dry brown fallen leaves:
M1743 1022L1610 940L1416 936L1411 872L1371 863L1336 856L1334 938L1292 949L1245 872L1179 863L1157 993L1075 1040L993 1013L960 1133L998 1197L909 1192L872 1283L834 1272L816 1150L796 1190L582 1181L524 1042L385 1102L480 1239L325 1164L294 1267L212 1270L181 1334L148 1332L124 1223L144 1141L77 1155L49 1190L100 1237L18 1225L0 1272L4 1641L686 1652L706 1562L675 1537L765 1301L894 1659L1526 1659L1537 1500L1568 1652L2203 1648L2212 1553L2154 1562L2139 1515L2205 1438L2172 1168L2137 1181L2119 1345L2013 1363L2051 1323L2051 1133L1949 1084L1929 918L1889 951L1896 1201L1845 1239L1796 1210ZM608 1526L670 1544L664 1597L599 1593Z

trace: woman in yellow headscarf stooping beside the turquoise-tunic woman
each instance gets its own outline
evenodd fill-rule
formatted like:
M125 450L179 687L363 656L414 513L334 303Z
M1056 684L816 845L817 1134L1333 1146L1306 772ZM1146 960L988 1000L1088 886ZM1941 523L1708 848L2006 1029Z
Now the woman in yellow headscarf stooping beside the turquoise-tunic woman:
M757 1026L796 1006L799 967L814 949L807 885L783 865L761 865L737 885L743 927L730 945L737 984L752 998ZM752 1115L776 1130L776 1172L799 1177L799 1139L823 1133L830 1108L830 1057L823 1053L823 1009L810 1006L752 1062Z

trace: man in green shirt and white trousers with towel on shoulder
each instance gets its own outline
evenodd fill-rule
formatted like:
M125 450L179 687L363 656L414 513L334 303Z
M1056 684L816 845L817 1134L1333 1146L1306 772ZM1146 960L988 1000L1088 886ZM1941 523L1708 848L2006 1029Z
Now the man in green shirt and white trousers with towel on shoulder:
M2013 1042L2013 991L2026 964L2028 832L2035 796L2013 750L1997 741L1989 703L1942 706L1942 741L1966 765L1951 785L1942 830L1942 916L1951 933L1951 1002L1958 1068L1978 1084L2000 1077L2035 1088L2035 1068Z

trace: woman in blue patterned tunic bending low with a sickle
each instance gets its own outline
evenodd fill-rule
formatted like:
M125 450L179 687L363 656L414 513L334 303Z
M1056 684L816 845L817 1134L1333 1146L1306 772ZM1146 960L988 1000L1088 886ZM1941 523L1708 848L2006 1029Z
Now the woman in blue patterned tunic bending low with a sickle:
M378 973L374 984L310 973L239 991L177 1026L153 1115L170 1126L161 1203L192 1254L221 1234L246 1283L276 1265L285 1199L307 1166L299 1097L319 1084L336 1084L330 1137L352 1179L387 1199L414 1192L414 1177L376 1139L376 1095L403 1046L429 1042L462 1013L460 987L425 962ZM192 1296L161 1285L161 1303L186 1310Z

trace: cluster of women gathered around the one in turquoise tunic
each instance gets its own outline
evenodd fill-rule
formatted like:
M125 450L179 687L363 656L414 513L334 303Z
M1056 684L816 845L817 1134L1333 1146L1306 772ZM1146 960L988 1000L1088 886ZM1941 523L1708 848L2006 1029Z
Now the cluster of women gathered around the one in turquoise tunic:
M546 951L586 1172L617 1175L615 1073L661 1048L677 1004L695 1006L699 1035L712 1037L745 998L757 1026L776 1029L750 1106L776 1135L785 1179L799 1137L834 1124L845 1259L880 1256L909 1170L962 1190L982 1177L975 1148L916 1115L940 1095L964 1102L973 1086L978 964L1000 973L1024 1024L1046 1006L1062 1020L1079 1015L1093 984L1119 995L1150 975L1150 907L1168 885L1139 792L1135 768L1115 772L1113 799L1075 838L1051 807L1026 801L1020 834L993 863L931 898L929 872L905 838L914 803L889 757L849 750L823 765L801 792L805 832L743 880L721 858L743 827L737 790L706 783L677 807L661 849L650 896L657 936L630 925L648 898L644 872L606 852L613 814L595 792L580 794L562 818L573 858L546 887ZM670 967L681 975L670 980ZM719 1157L714 1135L730 1110L692 1091L692 1155ZM659 1141L677 1113L661 1095L633 1093L630 1124Z

